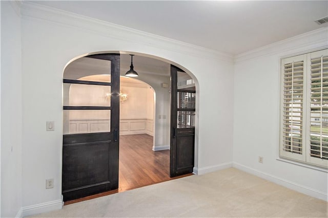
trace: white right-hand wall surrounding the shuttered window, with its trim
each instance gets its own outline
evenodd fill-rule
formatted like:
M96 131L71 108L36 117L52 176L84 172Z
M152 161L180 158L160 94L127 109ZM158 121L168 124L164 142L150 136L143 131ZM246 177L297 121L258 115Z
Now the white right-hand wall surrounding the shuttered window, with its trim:
M327 32L310 32L236 57L233 143L235 167L325 200L327 172L277 158L279 58L327 46Z

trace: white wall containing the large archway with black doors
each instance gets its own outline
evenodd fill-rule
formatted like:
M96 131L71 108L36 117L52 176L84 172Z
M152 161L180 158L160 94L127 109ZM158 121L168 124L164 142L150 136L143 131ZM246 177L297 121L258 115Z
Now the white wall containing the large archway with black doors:
M148 54L192 72L198 99L195 170L203 173L231 166L231 56L26 2L22 10L24 214L60 208L63 70L68 61L89 52ZM156 102L167 101L157 97L156 91ZM165 108L156 104L156 114L169 113ZM55 122L52 132L46 132L48 120ZM54 179L54 188L45 189L49 178Z

